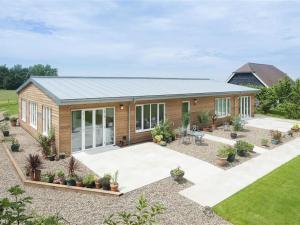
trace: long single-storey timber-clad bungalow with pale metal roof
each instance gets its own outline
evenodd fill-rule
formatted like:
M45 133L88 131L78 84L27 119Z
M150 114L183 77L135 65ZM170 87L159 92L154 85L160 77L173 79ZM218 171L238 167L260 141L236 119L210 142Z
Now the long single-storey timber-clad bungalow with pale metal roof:
M200 111L251 117L257 89L197 78L31 77L18 90L21 127L36 137L54 129L58 152L71 154L149 140L169 120L190 124Z

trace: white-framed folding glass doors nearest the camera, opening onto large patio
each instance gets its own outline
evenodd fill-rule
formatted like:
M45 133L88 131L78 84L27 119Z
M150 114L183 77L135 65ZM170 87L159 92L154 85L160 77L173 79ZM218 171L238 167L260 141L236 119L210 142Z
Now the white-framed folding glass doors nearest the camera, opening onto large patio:
M115 144L114 108L72 112L72 151Z

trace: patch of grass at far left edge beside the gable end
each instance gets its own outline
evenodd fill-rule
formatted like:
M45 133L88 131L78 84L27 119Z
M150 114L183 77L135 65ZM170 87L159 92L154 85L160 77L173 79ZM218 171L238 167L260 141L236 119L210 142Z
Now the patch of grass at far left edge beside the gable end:
M0 89L0 112L18 114L18 97L15 90Z

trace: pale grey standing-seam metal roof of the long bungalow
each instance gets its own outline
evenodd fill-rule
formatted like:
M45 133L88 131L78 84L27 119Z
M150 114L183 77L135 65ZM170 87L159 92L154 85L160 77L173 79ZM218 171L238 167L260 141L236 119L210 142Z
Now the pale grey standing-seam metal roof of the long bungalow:
M259 90L199 78L156 77L31 77L33 83L57 104L132 101L179 97L256 93Z

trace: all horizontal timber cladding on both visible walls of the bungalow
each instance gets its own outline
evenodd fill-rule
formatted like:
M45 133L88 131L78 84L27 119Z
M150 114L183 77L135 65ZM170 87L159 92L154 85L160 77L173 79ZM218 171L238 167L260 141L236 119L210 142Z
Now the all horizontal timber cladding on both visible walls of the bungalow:
M254 114L255 97L251 96L251 115ZM238 95L235 96L218 96L231 98L231 115L238 115L239 101ZM171 122L173 128L181 126L182 117L182 102L190 102L191 125L197 124L197 115L201 111L214 112L215 98L211 97L195 97L195 98L180 98L180 99L160 99L147 101L132 101L132 102L114 102L114 103L89 103L89 104L74 104L58 106L51 98L46 96L36 86L30 84L19 93L19 121L21 126L26 129L32 136L37 137L38 133L42 133L42 106L51 108L51 127L55 129L56 145L58 152L65 152L71 154L71 129L72 129L72 111L82 109L96 109L96 108L115 108L115 143L120 145L124 137L128 142L129 136L131 143L138 143L151 140L150 131L136 132L136 111L135 106L147 103L164 103L165 104L165 119ZM26 122L21 119L21 100L26 100L27 113ZM30 126L29 118L29 101L36 102L38 105L38 119L37 130ZM130 113L129 113L130 110ZM130 117L130 120L129 120ZM129 121L130 121L130 135L129 135ZM222 119L218 120L222 122Z

